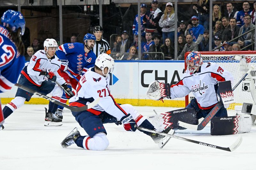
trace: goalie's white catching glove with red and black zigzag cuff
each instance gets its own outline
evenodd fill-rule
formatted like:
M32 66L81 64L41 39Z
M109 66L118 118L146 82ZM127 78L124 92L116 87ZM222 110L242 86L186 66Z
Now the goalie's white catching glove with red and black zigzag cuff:
M160 83L159 81L153 81L148 86L147 96L152 100L162 100L164 98L171 99L170 97L170 84Z

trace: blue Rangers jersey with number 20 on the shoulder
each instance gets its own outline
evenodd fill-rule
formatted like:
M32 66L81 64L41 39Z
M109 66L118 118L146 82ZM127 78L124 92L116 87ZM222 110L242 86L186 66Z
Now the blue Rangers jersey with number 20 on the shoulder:
M56 55L60 60L68 60L67 70L73 75L79 75L81 71L86 72L94 66L97 58L92 50L86 53L84 44L79 42L62 44L56 51Z

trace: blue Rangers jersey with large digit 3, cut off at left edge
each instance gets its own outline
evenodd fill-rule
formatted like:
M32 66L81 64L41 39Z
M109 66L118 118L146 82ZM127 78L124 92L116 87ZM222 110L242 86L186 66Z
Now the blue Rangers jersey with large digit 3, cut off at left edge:
M0 25L0 92L10 90L17 83L25 65L25 57L17 51L10 36L8 30Z

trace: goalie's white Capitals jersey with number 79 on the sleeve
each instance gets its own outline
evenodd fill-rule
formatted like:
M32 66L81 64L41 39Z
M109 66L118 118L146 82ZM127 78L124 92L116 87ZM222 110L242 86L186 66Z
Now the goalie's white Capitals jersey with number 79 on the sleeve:
M217 102L217 84L220 81L231 81L233 76L225 68L215 63L204 63L197 73L190 75L188 69L184 77L175 85L172 85L171 98L184 97L192 92L197 100L198 107L209 109Z

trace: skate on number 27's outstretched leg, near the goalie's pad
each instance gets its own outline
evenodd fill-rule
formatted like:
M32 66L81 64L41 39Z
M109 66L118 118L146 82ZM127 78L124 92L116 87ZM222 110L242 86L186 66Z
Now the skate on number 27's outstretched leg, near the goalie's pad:
M171 128L168 127L167 129L164 129L162 133L167 133L170 135L173 135L175 131ZM157 133L151 133L150 137L154 140L156 144L158 144L159 148L162 149L165 144L170 140L171 137L166 137Z

